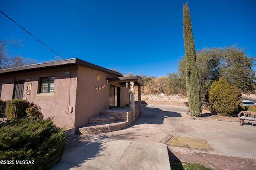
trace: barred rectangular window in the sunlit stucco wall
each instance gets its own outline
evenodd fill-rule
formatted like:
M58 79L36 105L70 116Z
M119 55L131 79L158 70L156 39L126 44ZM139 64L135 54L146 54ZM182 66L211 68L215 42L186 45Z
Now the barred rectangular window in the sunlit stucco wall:
M53 93L54 92L54 79L55 77L44 77L40 79L40 93Z

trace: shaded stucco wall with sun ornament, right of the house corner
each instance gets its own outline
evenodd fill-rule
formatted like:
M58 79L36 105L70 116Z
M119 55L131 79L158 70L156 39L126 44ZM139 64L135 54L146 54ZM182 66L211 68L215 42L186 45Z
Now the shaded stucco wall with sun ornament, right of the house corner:
M96 75L100 75L97 81ZM76 92L76 119L75 127L88 124L90 117L100 115L101 110L109 108L109 87L106 78L116 77L113 74L78 66L78 81ZM104 86L96 90L96 87ZM116 84L119 85L119 84ZM121 88L121 105L129 104L129 90Z

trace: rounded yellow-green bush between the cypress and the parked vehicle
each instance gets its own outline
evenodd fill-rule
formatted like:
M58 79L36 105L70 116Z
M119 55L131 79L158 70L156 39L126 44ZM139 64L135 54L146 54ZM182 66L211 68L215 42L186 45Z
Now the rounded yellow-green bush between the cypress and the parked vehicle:
M238 109L241 97L241 91L225 79L213 82L209 91L209 102L221 116L232 115Z

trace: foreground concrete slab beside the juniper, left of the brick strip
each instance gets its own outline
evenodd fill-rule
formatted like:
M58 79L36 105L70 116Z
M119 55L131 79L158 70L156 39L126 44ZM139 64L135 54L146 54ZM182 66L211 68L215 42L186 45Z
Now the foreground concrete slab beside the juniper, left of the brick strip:
M167 146L127 140L91 140L65 154L54 170L170 170Z

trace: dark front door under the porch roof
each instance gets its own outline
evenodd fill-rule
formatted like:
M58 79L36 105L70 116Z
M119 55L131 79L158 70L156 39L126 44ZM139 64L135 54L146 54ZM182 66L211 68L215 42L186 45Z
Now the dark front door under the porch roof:
M120 87L110 85L109 88L109 109L120 107Z

